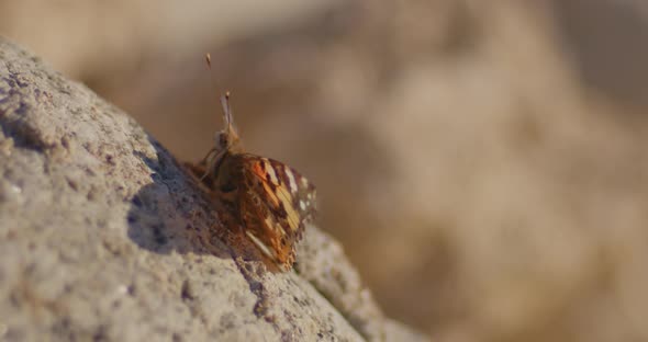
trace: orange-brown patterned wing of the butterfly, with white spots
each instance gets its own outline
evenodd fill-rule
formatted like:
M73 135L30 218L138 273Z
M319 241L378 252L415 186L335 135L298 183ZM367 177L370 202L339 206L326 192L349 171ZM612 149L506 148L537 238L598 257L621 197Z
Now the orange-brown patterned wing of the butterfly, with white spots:
M315 215L315 186L272 159L235 155L241 170L238 207L246 235L275 262L294 262L294 244Z

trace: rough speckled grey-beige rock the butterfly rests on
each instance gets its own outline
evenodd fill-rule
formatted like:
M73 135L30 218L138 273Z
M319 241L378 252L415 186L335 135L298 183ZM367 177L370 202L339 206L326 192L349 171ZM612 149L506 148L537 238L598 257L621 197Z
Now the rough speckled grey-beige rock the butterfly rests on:
M316 227L267 271L133 118L0 37L0 340L425 339Z

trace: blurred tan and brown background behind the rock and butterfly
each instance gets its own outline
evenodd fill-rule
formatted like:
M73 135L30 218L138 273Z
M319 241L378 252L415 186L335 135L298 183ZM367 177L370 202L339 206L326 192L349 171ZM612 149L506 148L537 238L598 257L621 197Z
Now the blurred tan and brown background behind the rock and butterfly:
M0 34L179 160L221 128L216 79L436 341L648 341L645 1L4 0Z

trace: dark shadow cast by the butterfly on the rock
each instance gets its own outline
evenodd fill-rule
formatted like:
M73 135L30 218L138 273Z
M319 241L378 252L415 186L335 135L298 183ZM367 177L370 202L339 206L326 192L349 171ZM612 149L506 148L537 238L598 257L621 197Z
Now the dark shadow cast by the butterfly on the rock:
M137 153L149 169L152 183L133 196L127 215L129 238L143 249L167 254L211 254L232 259L232 239L214 204L171 155L149 138L157 158Z

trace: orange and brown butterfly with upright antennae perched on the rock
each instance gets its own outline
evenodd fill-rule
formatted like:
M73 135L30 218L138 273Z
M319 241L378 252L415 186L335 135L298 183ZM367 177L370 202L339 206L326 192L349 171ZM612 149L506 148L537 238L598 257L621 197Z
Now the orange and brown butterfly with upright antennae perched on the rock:
M190 170L227 204L260 252L288 271L304 226L316 213L315 186L280 161L245 152L234 128L230 92L221 96L221 105L225 127L206 157Z

